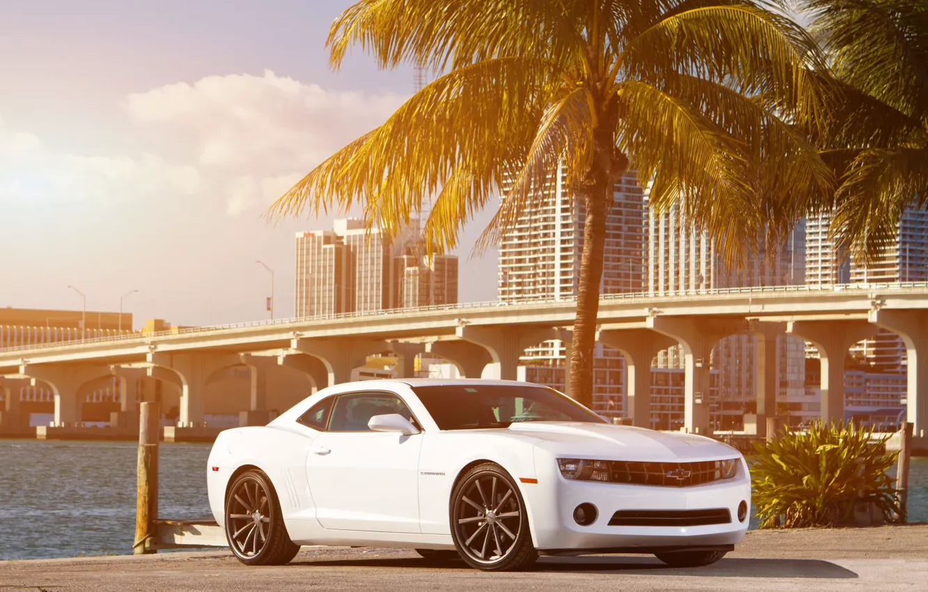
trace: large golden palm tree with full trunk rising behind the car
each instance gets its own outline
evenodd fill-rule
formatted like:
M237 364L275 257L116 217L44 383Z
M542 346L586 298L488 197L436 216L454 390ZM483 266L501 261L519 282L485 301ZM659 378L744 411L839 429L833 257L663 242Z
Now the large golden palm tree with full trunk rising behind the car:
M606 216L634 171L651 207L680 203L735 261L758 229L782 235L831 170L784 118L823 93L815 43L750 0L361 0L335 20L338 68L360 45L381 68L430 69L379 128L272 206L277 217L364 206L388 236L432 199L425 241L452 249L506 187L477 248L495 246L559 163L584 212L571 394L592 402Z

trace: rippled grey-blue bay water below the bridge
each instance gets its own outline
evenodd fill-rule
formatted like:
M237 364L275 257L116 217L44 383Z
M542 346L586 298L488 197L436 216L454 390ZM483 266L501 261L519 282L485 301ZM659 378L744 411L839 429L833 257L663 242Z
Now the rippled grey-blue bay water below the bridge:
M210 516L211 444L162 444L159 516ZM0 440L0 560L129 555L135 443ZM928 522L928 458L912 458L909 521Z

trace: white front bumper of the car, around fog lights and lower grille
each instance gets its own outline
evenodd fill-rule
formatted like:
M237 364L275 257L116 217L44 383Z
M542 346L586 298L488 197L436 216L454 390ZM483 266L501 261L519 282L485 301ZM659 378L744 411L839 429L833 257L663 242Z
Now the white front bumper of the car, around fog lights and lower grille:
M547 458L536 458L535 468L538 483L522 483L521 489L535 548L543 552L633 552L641 548L642 553L648 553L660 547L727 547L740 543L748 529L750 517L738 520L741 502L749 508L751 504L751 479L743 459L733 479L690 487L567 481L556 463ZM574 508L583 503L598 510L596 520L588 526L574 521ZM702 526L609 525L617 510L716 508L728 508L731 521Z

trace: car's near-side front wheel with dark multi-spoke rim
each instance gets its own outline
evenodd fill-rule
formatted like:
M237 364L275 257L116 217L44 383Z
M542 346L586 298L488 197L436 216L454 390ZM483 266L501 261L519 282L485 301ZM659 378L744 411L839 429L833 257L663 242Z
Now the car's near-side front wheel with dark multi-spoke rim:
M461 476L449 515L455 547L470 567L512 572L538 559L519 486L496 463L477 465Z

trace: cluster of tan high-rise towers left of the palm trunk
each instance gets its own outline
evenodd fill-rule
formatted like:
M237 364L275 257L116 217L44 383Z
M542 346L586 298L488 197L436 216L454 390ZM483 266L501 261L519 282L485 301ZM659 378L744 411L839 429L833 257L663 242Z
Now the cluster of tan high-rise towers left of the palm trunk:
M425 252L417 220L392 241L356 219L297 233L295 315L458 302L458 258Z

